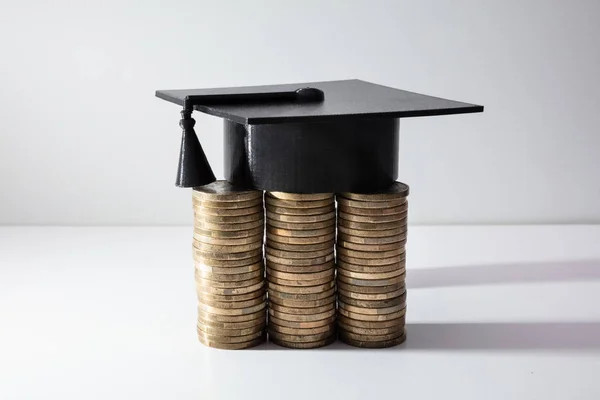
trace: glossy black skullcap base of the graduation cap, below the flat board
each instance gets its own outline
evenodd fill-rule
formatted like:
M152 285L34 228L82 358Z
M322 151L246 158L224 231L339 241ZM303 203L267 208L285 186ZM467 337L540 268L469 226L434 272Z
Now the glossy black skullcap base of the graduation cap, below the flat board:
M243 125L225 121L225 178L292 193L373 192L398 178L399 120Z

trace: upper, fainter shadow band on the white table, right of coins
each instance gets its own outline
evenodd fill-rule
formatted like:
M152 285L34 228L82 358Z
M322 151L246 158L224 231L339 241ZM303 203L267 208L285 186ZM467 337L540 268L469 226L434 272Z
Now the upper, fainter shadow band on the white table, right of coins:
M410 269L409 289L526 282L600 280L600 260Z

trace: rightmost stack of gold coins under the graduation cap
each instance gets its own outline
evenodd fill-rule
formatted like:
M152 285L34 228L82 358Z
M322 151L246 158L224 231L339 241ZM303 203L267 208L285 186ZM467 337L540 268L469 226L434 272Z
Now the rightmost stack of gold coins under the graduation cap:
M396 182L384 192L337 196L338 334L352 346L406 339L408 191Z

